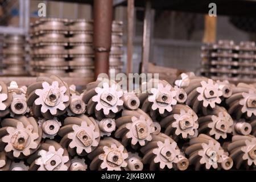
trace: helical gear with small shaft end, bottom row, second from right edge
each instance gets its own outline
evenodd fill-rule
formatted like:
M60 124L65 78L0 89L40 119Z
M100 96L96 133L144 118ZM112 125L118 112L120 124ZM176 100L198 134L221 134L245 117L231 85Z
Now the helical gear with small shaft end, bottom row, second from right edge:
M192 138L189 146L185 148L185 154L189 156L189 164L197 171L201 168L229 170L233 166L233 160L228 152L224 152L217 140L205 134Z

